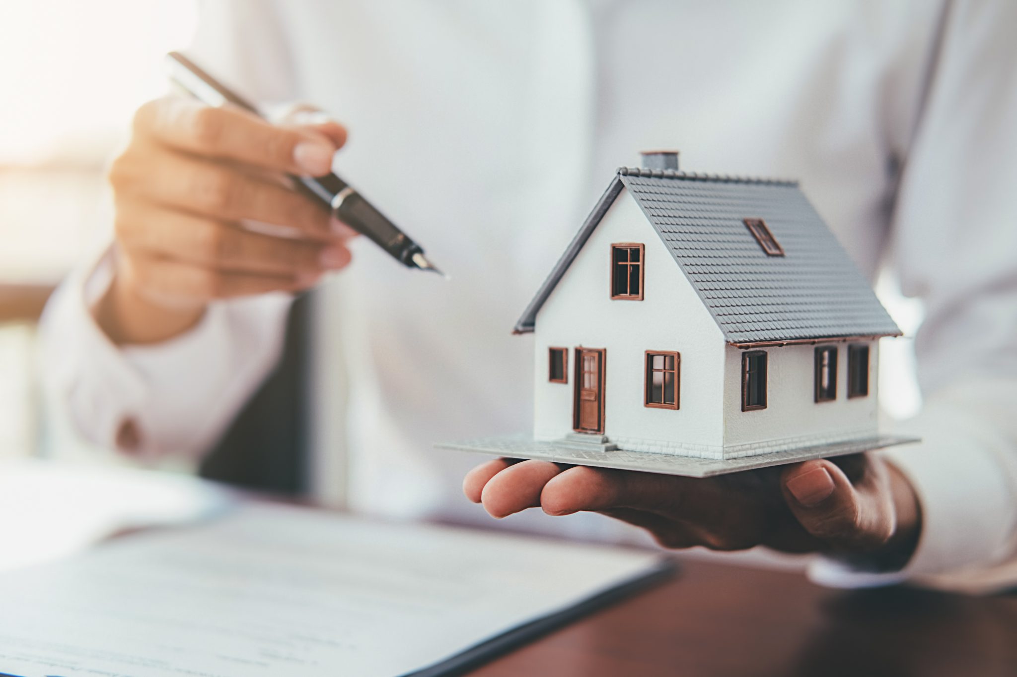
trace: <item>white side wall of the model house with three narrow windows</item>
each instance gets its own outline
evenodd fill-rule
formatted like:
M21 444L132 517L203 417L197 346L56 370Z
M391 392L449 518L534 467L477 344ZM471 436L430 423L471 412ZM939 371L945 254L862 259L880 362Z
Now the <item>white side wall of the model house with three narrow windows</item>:
M767 407L741 411L741 349L725 348L724 458L876 434L879 343L870 346L869 395L847 397L847 344L837 346L837 399L815 401L813 345L760 348L767 356Z

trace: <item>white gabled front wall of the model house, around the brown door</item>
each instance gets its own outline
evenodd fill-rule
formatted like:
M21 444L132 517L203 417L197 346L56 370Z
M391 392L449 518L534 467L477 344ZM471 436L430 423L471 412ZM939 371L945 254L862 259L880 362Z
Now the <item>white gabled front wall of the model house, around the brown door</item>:
M642 243L644 299L611 300L610 246ZM604 434L632 451L720 458L725 344L639 205L623 190L537 315L534 435L573 431L575 348L605 348ZM548 383L548 348L569 349L569 383ZM681 354L677 411L644 406L646 350Z

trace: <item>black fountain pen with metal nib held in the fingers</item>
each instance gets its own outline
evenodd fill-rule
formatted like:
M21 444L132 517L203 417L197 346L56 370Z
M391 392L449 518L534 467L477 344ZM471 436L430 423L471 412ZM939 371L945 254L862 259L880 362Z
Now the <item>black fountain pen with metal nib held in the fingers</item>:
M170 77L201 103L216 107L232 104L260 116L257 109L223 86L184 55L170 52L167 56ZM291 175L290 178L297 190L321 203L341 221L372 240L404 266L433 270L438 275L444 275L427 260L420 245L410 240L374 205L335 174L323 177Z

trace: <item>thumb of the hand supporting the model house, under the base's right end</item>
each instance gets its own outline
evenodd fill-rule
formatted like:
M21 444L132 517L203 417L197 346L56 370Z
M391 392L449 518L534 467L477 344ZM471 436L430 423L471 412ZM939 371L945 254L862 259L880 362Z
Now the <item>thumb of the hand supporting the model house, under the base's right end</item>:
M894 532L895 515L885 467L864 461L855 484L827 460L791 465L780 483L791 513L813 536L831 549L861 553L885 545Z

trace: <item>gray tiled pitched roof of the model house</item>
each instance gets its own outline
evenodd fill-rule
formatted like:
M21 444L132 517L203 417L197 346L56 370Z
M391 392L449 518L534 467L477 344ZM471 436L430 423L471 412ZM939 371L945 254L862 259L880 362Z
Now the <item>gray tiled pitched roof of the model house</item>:
M537 312L627 188L728 343L900 330L796 183L621 167L516 325ZM767 256L742 219L762 218L785 256Z

